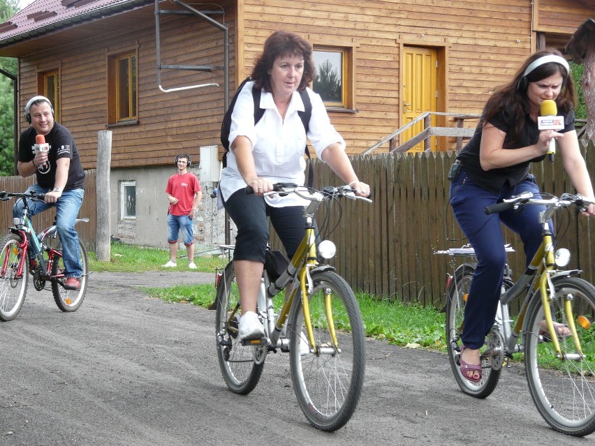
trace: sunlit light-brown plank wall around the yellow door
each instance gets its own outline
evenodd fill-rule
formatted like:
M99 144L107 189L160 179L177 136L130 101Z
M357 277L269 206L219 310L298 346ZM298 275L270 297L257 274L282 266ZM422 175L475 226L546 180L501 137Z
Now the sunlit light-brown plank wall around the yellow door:
M439 64L446 66L445 87L438 91L442 102L436 111L461 114L480 113L494 87L507 82L531 53L533 11L527 0L324 1L316 5L246 0L243 8L246 73L263 40L279 24L314 45L353 45L358 112L329 112L350 154L361 153L402 126L399 68L404 45L443 52ZM565 13L558 10L555 15L561 20Z

